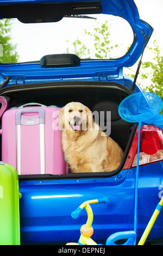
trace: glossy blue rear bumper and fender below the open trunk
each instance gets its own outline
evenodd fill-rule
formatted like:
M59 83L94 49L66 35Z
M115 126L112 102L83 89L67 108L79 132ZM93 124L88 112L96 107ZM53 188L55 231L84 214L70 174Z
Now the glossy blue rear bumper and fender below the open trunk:
M137 239L159 203L162 164L140 167ZM92 205L93 240L105 241L117 231L133 230L135 176L133 168L110 178L20 181L21 242L77 242L87 214L83 210L74 220L71 212L86 200L102 197L108 197L107 204ZM148 239L163 239L163 212Z

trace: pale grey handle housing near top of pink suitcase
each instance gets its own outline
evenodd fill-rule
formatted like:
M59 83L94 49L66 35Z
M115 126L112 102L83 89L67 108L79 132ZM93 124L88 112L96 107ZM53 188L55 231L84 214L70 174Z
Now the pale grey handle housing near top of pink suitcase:
M22 114L24 113L39 113L37 122L29 123L28 121L22 123ZM30 119L30 118L29 118ZM33 118L32 118L33 119ZM28 120L28 119L26 119ZM34 125L34 124L45 124L45 110L43 108L20 108L17 109L15 114L15 125Z

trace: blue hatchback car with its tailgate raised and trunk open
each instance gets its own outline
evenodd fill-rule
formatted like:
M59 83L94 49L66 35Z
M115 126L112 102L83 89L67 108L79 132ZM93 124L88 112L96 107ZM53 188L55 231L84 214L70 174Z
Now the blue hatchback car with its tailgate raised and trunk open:
M119 28L122 32L121 36L110 27L115 40L119 40L118 43L112 42L112 45L111 39L106 43L106 47L107 44L109 45L110 58L103 54L107 51L106 48L101 52L93 52L93 45L90 44L96 42L90 43L86 39L89 45L87 46L78 38L78 34L68 39L70 41L72 39L72 47L73 45L79 47L76 48L76 52L71 52L71 47L65 52L60 52L60 46L65 40L64 35L67 36L70 33L66 34L64 28L66 30L71 28L71 32L77 33L80 31L80 25L77 22L85 23L86 33L83 34L85 38L90 33L87 31L89 22L95 23L97 28L100 24L98 17L102 14L104 15L103 24L106 17L120 19L117 29ZM123 69L133 66L141 57L153 28L147 22L140 20L133 0L2 0L0 17L12 19L14 28L17 28L14 31L18 35L17 41L14 41L17 46L18 42L26 36L25 33L20 32L20 28L26 31L26 28L29 29L28 25L31 26L30 28L37 26L38 38L41 34L41 42L45 46L39 48L40 42L35 45L37 36L32 29L29 29L28 40L26 39L28 47L19 48L22 54L26 53L24 59L19 63L0 64L0 95L8 100L10 107L18 107L30 102L63 107L68 102L77 101L89 107L92 112L111 111L108 135L124 151L120 166L112 172L71 173L70 170L64 175L19 175L19 191L22 194L20 199L21 244L65 245L67 242L78 242L79 230L81 225L86 223L87 213L83 210L74 220L71 212L83 202L97 198L107 198L108 203L92 205L93 240L105 244L108 237L116 232L134 230L138 128L137 123L129 123L120 117L118 106L127 96L142 92L136 78L133 80L129 76L124 76ZM19 21L18 25L16 25L16 19ZM66 25L60 26L63 21ZM129 26L129 34L124 34L123 22ZM46 34L48 26L51 27L53 24L56 30L51 28ZM46 26L44 32L40 26ZM103 26L101 35L106 33L108 26ZM57 34L57 27L61 37ZM49 52L51 44L49 34L53 35L53 42L59 41L58 46L54 45L51 48L51 52ZM94 34L96 35L96 32ZM131 35L131 41L128 39L129 35ZM103 47L100 40L101 38L95 47L96 50L98 47L101 49ZM126 48L121 45L122 41L128 42ZM73 44L73 42L76 43ZM86 48L84 48L85 45ZM92 53L90 53L91 50ZM119 50L122 50L121 55L117 53ZM83 58L80 55L77 56L81 51L83 51ZM31 57L35 52L38 53L36 56L40 60ZM103 130L106 132L108 127L106 114L103 124ZM162 160L162 130L154 124L143 123L137 192L137 242L162 197ZM149 233L147 244L162 243L162 214L160 212Z

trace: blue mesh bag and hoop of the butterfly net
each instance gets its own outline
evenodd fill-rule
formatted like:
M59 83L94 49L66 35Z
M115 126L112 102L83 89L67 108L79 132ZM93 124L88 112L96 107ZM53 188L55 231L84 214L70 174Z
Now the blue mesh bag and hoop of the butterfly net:
M163 130L163 102L157 94L140 92L126 97L118 107L120 117L130 123L153 124Z

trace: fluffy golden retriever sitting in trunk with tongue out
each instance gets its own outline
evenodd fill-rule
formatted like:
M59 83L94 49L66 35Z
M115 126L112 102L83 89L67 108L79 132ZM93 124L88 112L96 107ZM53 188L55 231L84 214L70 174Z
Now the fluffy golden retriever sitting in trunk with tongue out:
M59 112L62 147L72 173L111 172L121 163L120 146L93 121L80 102L70 102Z

